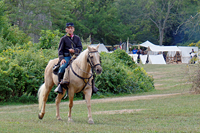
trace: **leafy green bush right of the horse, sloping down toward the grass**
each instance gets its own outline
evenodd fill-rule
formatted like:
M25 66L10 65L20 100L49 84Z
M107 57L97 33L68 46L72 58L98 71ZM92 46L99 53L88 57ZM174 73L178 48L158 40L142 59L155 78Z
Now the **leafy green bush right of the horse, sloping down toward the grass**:
M123 50L101 53L101 59L103 72L96 78L96 86L101 93L135 93L154 88L153 78Z

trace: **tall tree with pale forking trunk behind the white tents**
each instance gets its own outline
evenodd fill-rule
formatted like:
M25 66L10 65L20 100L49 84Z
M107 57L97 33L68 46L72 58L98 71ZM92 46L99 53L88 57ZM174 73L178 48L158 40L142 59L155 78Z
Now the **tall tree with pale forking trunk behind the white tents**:
M163 45L166 29L171 28L181 0L144 0L145 15L158 28L159 45Z

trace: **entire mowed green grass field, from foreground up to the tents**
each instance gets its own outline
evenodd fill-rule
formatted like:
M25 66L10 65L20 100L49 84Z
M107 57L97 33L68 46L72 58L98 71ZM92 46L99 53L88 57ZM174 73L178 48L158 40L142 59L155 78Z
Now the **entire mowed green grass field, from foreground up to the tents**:
M156 90L123 96L124 101L93 101L93 125L87 123L87 107L80 101L72 109L73 123L67 122L68 101L60 105L62 121L56 120L55 104L47 104L43 120L38 119L37 104L7 105L0 106L0 132L200 132L200 97L190 93L195 66L141 66L154 77ZM177 95L154 97L174 93Z

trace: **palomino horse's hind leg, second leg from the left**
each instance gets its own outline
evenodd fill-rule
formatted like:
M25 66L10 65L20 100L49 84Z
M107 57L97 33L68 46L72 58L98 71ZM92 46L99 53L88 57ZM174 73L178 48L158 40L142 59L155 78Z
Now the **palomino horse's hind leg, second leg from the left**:
M60 102L61 102L61 99L64 97L66 93L66 90L63 89L63 94L58 94L57 97L56 97L56 118L57 120L62 120L61 117L60 117L60 109L59 109L59 106L60 106Z

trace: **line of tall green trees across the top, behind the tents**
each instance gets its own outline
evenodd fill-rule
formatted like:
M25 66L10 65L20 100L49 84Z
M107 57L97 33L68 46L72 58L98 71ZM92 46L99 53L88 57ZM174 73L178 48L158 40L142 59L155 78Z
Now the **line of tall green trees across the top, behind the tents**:
M91 43L115 45L149 40L188 45L200 40L199 0L4 0L9 23L38 42L41 30L73 22L75 33Z

